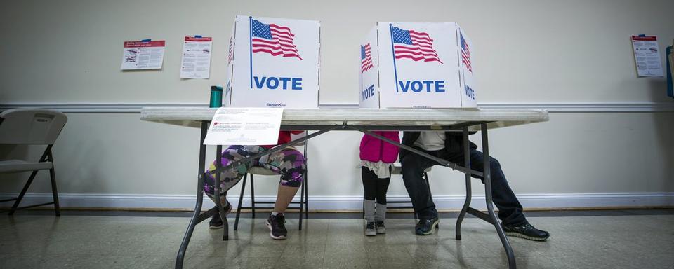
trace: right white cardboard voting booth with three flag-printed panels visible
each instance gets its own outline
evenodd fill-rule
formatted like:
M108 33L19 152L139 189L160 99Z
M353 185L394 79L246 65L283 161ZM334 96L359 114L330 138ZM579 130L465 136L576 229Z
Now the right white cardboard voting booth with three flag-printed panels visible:
M472 53L455 22L378 22L360 45L360 107L475 108Z

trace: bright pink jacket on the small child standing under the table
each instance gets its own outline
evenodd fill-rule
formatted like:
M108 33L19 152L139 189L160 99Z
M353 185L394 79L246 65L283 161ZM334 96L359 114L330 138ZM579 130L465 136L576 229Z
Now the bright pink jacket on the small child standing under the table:
M395 142L400 142L397 131L378 131L377 135L386 137ZM384 163L394 163L398 158L398 147L388 142L383 142L376 137L364 135L360 140L360 159L371 162L383 161Z

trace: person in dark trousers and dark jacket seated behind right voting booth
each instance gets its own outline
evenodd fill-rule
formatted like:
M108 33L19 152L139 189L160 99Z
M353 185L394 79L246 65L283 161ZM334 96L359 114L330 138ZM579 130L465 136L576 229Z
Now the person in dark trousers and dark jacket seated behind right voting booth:
M414 147L432 156L448 160L451 163L463 166L463 147L470 147L470 169L479 172L484 171L484 155L477 150L477 145L470 142L463 144L463 135L456 132L403 132L402 144ZM505 235L522 237L528 240L545 241L550 233L538 230L529 224L522 212L522 205L517 196L508 186L505 174L501 169L501 163L490 156L491 170L491 195L494 205L498 207L498 219ZM411 198L414 211L419 216L415 232L417 235L430 235L437 228L440 220L437 218L435 203L430 198L428 186L423 180L423 171L433 165L434 160L421 155L400 149L400 163L402 165L402 179ZM476 177L476 176L473 176ZM482 179L482 177L476 177ZM482 180L484 184L484 179Z

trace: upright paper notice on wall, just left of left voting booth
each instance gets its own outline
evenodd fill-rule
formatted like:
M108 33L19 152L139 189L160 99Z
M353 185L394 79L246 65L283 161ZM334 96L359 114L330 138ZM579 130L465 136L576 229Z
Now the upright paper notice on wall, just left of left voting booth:
M180 78L209 78L212 49L213 38L210 36L185 36Z

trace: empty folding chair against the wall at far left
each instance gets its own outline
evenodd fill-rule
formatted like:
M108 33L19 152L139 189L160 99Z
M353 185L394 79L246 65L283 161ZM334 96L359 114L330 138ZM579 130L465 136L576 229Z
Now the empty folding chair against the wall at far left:
M0 160L0 173L31 172L28 181L23 186L17 198L0 200L0 202L14 201L14 205L12 205L9 211L10 215L19 209L54 205L56 216L60 216L53 163L54 157L51 149L67 120L68 118L64 113L46 109L8 109L0 113L0 144L46 145L42 157L37 162ZM19 207L21 200L39 170L49 170L53 202Z

